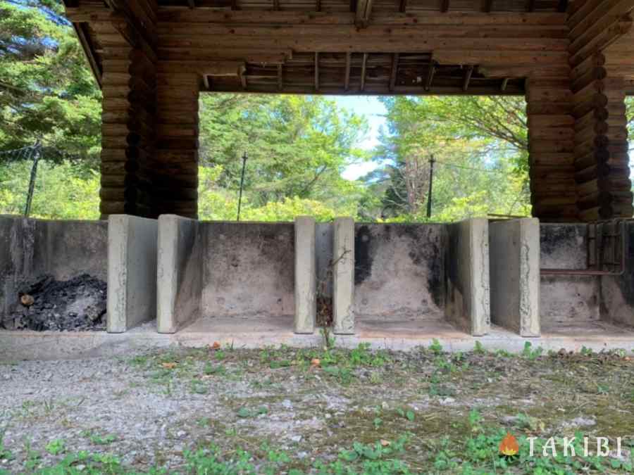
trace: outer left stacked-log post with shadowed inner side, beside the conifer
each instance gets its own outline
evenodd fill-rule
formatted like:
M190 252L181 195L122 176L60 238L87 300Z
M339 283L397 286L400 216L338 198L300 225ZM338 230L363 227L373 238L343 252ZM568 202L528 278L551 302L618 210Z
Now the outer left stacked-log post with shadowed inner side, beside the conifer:
M143 34L139 20L111 2L111 22L97 39L108 42L102 57L101 217L152 215L151 170L156 151L156 56L151 44L154 25Z

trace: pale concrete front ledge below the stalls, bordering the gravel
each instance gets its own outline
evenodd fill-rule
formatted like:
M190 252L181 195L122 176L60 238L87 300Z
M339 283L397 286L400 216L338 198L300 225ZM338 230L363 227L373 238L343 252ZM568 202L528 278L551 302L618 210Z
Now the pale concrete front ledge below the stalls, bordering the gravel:
M430 346L434 339L449 352L471 351L478 341L486 350L506 350L520 353L526 341L533 348L543 350L579 351L583 346L593 351L622 348L634 354L634 331L616 326L604 326L597 329L578 329L571 334L542 333L537 338L522 338L517 334L492 327L486 336L469 336L461 331L409 331L404 335L385 334L368 336L363 327L353 336L337 336L335 344L342 348L355 348L359 343L369 343L371 348L390 348L392 350L411 350L420 346ZM205 348L218 341L223 346L233 348L263 348L264 346L285 344L293 348L309 348L323 345L321 336L297 335L292 331L249 331L216 325L216 331L179 331L176 334L158 334L154 324L144 324L124 334L106 334L105 332L36 332L36 331L0 331L0 362L18 360L60 360L84 357L102 357L130 355L155 348L168 346L187 346Z

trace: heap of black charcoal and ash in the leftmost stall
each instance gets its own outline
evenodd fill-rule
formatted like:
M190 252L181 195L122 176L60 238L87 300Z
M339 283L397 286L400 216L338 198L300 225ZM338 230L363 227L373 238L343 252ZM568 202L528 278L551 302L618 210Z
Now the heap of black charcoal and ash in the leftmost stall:
M45 276L20 286L15 310L0 328L35 331L106 329L106 282L88 274L68 281Z

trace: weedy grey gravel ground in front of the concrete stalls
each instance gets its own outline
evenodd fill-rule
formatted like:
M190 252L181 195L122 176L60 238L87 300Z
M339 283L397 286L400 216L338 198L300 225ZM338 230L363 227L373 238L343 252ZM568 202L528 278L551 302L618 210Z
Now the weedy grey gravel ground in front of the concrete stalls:
M416 447L406 460L427 471L437 441L468 435L474 407L498 429L633 437L633 383L633 362L618 355L214 348L5 362L0 472L31 473L81 450L181 471L186 450L211 442L251 452L266 443L306 469L353 441L406 432Z

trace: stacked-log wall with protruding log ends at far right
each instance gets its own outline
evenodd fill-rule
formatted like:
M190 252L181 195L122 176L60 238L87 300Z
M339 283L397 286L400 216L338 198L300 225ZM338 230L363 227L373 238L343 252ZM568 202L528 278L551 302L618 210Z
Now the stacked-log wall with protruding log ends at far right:
M611 44L632 27L633 0L586 0L568 18L573 92L574 177L580 220L632 217L626 70L607 65ZM619 62L618 53L613 61Z

